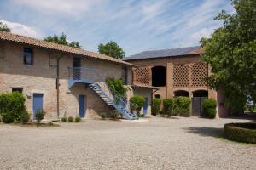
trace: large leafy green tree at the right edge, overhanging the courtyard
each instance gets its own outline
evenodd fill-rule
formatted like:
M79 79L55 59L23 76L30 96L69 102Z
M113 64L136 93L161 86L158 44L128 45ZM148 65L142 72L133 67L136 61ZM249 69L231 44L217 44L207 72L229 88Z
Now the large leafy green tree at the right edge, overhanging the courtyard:
M235 14L222 11L215 20L224 26L202 38L202 55L212 66L207 77L211 88L224 92L224 104L231 113L243 111L247 100L256 101L256 1L232 0Z

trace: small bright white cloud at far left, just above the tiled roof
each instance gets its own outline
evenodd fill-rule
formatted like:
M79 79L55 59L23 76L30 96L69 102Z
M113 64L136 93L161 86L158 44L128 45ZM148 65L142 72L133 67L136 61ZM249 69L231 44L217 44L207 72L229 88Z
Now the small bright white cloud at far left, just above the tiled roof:
M6 24L10 29L11 32L15 34L20 34L27 37L35 37L35 38L42 38L43 34L41 31L34 27L25 26L23 24L17 23L17 22L10 22L7 20L0 20L0 22L3 22Z

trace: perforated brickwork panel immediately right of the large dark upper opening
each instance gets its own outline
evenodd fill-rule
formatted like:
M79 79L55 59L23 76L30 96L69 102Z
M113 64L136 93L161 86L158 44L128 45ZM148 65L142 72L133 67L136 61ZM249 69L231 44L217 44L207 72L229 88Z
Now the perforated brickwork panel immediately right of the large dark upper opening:
M173 86L189 87L189 65L174 65Z

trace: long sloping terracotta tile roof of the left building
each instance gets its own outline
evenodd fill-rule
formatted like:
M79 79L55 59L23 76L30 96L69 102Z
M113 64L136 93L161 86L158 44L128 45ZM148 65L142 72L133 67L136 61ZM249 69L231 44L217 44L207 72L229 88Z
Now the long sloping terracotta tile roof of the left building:
M88 56L94 59L102 59L102 60L107 60L114 63L122 64L122 65L134 66L130 63L123 61L122 59L114 59L104 54L97 54L91 51L86 51L84 49L73 48L73 47L69 47L69 46L65 46L65 45L61 45L53 42L46 42L46 41L38 40L32 37L20 36L20 35L5 32L5 31L0 31L0 41L1 40L9 41L9 42L19 42L21 44L32 45L38 48L48 48L48 49L60 51L63 53L79 54L79 55Z

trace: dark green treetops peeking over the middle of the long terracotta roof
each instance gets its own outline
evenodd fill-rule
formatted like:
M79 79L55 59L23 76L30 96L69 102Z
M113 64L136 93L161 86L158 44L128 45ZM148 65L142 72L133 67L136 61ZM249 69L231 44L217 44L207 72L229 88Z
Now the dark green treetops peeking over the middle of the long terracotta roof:
M82 48L79 42L67 42L67 36L64 33L61 34L61 37L58 37L57 35L54 35L53 37L51 36L45 37L44 41L55 42L55 43L67 45L73 48Z

